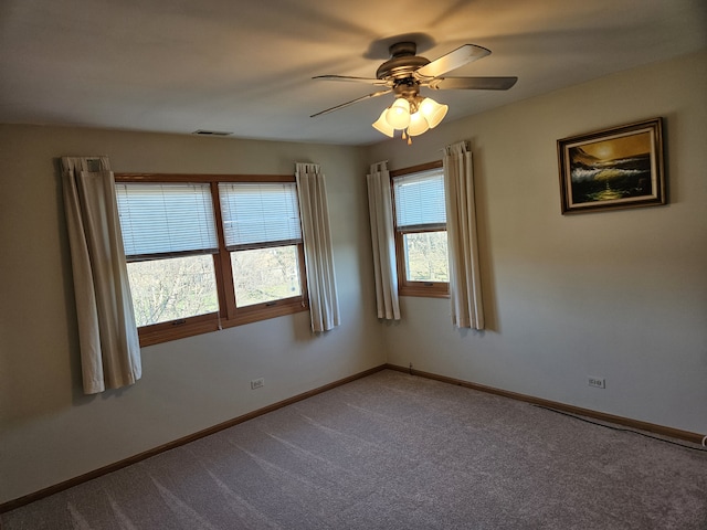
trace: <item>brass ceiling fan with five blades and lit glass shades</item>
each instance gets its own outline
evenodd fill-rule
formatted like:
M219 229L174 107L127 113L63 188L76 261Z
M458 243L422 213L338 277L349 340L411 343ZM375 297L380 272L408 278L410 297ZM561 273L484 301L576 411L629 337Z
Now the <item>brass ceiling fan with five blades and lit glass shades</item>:
M421 87L433 91L507 91L518 81L518 77L445 76L444 74L447 72L490 54L489 50L475 44L464 44L434 61L416 55L416 51L418 46L414 42L404 41L391 44L389 46L390 59L378 67L376 78L348 75L313 77L324 81L366 83L384 88L313 114L310 117L314 118L365 99L392 93L395 96L394 103L386 108L372 125L391 138L394 131L400 129L403 139L407 136L408 144L410 144L411 136L421 135L428 129L436 127L449 109L446 105L440 105L430 97L420 96Z

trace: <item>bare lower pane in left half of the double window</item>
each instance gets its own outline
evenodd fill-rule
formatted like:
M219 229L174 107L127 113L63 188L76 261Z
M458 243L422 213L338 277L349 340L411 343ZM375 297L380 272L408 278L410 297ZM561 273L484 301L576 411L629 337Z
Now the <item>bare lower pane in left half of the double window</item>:
M128 263L138 327L219 310L211 255Z

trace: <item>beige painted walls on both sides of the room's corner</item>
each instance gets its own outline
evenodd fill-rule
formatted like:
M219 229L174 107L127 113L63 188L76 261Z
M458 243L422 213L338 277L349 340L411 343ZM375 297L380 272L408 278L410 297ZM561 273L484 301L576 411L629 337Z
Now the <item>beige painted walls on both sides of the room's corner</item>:
M386 360L707 434L706 66L701 53L612 75L443 124L412 147L0 126L0 502ZM671 204L562 216L556 140L654 116L666 118ZM454 330L446 300L409 297L402 322L379 325L367 165L439 159L462 139L475 157L490 329ZM146 172L321 163L342 326L313 338L298 314L145 348L138 384L83 396L62 155ZM265 388L251 391L254 378Z

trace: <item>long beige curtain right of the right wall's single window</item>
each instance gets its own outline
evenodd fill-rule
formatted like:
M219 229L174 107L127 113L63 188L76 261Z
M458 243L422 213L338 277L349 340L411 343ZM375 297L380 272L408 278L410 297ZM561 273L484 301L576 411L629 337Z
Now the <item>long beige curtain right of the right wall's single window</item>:
M452 321L460 328L484 329L474 170L467 142L447 146L443 162Z

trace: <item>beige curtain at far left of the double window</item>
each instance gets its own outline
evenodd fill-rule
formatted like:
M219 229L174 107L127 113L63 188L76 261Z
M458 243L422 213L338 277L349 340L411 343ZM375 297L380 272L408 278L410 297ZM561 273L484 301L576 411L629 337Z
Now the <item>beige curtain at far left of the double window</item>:
M84 392L135 383L140 347L108 159L62 158Z

